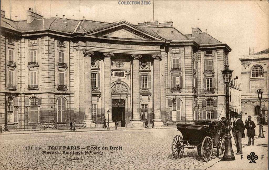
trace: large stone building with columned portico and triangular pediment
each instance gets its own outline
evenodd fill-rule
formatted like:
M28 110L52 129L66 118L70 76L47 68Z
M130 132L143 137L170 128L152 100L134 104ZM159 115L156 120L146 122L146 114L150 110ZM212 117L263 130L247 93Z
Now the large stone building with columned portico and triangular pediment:
M44 18L1 13L0 110L9 129L142 126L225 116L221 70L231 49L172 22ZM153 104L154 103L154 104ZM110 124L111 126L113 123Z

